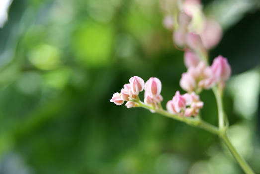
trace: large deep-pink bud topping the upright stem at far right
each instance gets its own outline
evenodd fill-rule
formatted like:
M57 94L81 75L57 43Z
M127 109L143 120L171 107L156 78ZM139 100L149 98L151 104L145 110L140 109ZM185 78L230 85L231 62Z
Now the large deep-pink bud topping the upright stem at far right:
M228 80L231 74L231 68L227 59L221 55L213 60L211 70L217 82Z

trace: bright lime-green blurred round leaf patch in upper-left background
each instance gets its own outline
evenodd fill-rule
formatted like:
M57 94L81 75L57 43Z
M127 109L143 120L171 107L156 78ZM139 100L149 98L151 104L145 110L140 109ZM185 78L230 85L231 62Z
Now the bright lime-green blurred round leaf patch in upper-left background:
M79 64L107 65L111 61L113 30L110 25L88 21L76 28L72 44Z

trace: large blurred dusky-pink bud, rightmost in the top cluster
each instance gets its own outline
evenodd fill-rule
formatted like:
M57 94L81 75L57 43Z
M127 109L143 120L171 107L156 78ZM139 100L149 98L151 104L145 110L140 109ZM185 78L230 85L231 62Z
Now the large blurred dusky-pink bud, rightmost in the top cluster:
M210 49L216 46L222 37L222 28L214 20L206 20L204 29L201 32L201 39L203 45Z

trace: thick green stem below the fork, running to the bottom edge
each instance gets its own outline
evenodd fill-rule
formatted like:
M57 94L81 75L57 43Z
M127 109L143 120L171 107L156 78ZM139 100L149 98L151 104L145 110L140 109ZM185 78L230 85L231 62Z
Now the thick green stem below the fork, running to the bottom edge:
M230 140L228 139L226 133L221 135L220 138L225 142L228 149L230 150L231 154L234 156L234 158L237 160L240 167L243 169L243 171L246 174L255 174L254 171L250 168L250 166L247 164L247 162L243 159L241 155L237 152L235 147L231 144Z

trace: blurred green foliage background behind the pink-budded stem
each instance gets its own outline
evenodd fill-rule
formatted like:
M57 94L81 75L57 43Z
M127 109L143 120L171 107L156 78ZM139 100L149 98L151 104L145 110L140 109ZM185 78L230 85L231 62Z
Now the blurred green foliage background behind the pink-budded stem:
M129 78L186 71L160 0L14 0L0 28L0 174L243 174L217 136L110 103ZM203 0L224 29L231 141L260 173L260 4ZM141 94L141 98L143 98ZM217 125L212 91L202 117Z

